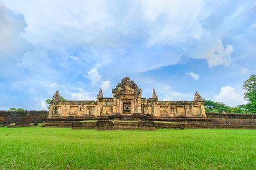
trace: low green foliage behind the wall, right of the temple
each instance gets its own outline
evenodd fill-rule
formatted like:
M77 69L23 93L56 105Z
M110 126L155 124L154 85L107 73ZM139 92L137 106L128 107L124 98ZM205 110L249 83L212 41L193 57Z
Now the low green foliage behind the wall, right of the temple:
M205 112L210 113L248 113L249 111L244 107L244 105L239 105L236 107L227 106L221 102L214 102L211 100L205 100Z

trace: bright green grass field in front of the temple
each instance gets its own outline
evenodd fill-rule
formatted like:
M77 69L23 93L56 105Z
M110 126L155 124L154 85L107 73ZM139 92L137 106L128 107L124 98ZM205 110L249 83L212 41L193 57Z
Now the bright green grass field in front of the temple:
M0 169L256 169L256 131L0 128Z

